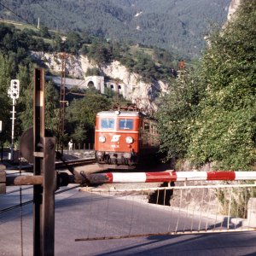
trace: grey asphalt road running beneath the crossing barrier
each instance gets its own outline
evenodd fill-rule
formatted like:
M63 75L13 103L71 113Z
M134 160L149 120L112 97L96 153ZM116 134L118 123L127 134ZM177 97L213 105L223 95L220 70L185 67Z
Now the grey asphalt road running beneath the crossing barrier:
M1 195L0 204L14 197ZM56 195L55 199L55 255L256 255L255 232L75 241L88 236L161 232L170 224L175 226L177 216L172 215L172 223L170 212L160 207L119 198L108 200L106 195L90 195L78 189ZM111 212L108 218L106 211ZM180 223L183 228L185 218L180 218ZM23 255L32 255L32 204L22 207L22 211L0 215L0 255L21 255L21 226Z

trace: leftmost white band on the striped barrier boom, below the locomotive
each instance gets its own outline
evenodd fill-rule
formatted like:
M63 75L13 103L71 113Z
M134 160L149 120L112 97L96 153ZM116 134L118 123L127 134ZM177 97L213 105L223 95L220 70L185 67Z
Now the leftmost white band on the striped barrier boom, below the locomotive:
M145 183L146 172L113 172L113 183Z

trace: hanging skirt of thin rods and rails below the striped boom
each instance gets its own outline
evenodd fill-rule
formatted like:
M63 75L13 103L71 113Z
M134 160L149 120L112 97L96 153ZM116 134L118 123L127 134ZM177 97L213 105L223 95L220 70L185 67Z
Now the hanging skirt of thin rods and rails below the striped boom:
M256 230L255 184L81 190L90 202L76 241Z

